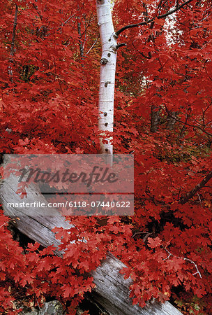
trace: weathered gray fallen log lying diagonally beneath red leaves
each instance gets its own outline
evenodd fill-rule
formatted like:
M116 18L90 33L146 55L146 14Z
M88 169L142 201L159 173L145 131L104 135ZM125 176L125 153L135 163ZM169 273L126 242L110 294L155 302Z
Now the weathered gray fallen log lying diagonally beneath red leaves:
M23 214L23 209L20 207L8 207L8 202L20 203L20 197L15 192L17 190L18 179L14 175L10 175L4 180L3 188L1 186L0 199L4 205L4 213L15 220L15 226L24 235L27 235L34 241L38 241L41 245L47 247L52 244L59 245L59 241L55 239L52 229L55 227L70 228L70 224L52 208L45 208L45 214L49 211L50 216L42 216L42 209L34 207L28 209L27 215ZM27 188L27 202L40 201L47 204L47 201L40 194L38 186L30 184ZM31 212L30 212L31 211ZM56 255L62 256L61 251L56 250ZM108 253L107 258L102 264L92 272L93 281L96 288L93 289L90 297L93 301L102 305L111 315L180 315L172 304L165 302L163 304L157 301L152 301L146 304L146 307L141 308L138 305L132 305L132 300L129 297L129 286L132 280L123 279L119 271L126 267L120 260Z

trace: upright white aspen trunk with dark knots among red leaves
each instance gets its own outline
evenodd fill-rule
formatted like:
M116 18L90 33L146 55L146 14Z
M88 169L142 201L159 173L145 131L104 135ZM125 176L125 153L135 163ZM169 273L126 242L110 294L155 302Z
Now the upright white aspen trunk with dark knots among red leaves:
M100 87L98 109L100 118L98 119L98 128L100 131L112 132L114 124L114 87L116 74L116 39L114 25L112 22L110 0L97 0L97 18L100 28L100 38L102 44L102 56L100 60ZM113 146L109 143L112 137L106 139L107 144L103 144L100 139L100 153L106 153L112 156Z

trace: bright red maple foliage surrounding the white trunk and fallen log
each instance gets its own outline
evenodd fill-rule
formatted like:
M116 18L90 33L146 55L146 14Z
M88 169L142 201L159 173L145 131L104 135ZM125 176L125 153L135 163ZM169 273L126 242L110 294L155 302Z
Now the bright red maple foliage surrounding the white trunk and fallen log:
M1 153L98 153L96 1L0 8ZM14 314L15 286L39 302L54 292L67 306L71 297L75 314L93 287L87 272L111 251L128 266L135 303L174 291L185 314L210 314L211 10L209 0L114 2L114 29L127 45L118 50L106 137L115 153L134 152L135 216L71 218L70 234L55 230L68 248L61 259L38 244L22 254L1 215L2 312Z

